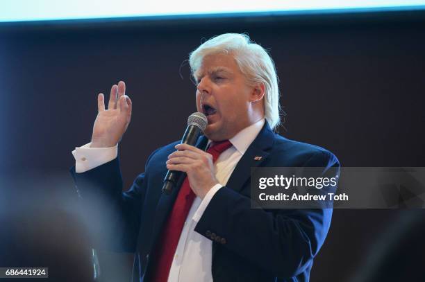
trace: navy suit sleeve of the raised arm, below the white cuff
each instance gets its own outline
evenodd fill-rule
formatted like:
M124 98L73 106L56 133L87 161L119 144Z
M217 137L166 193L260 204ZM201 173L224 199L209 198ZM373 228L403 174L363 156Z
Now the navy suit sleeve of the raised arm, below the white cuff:
M85 173L76 173L75 167L70 172L80 198L81 217L90 229L92 247L135 252L146 174L138 175L131 188L122 192L118 158Z

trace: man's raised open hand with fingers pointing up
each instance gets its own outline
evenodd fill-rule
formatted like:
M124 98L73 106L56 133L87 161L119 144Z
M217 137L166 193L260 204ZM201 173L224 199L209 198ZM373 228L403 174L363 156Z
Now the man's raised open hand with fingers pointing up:
M105 97L97 96L98 113L93 125L92 148L113 147L122 139L131 121L131 99L126 96L126 84L118 82L110 89L108 109Z

